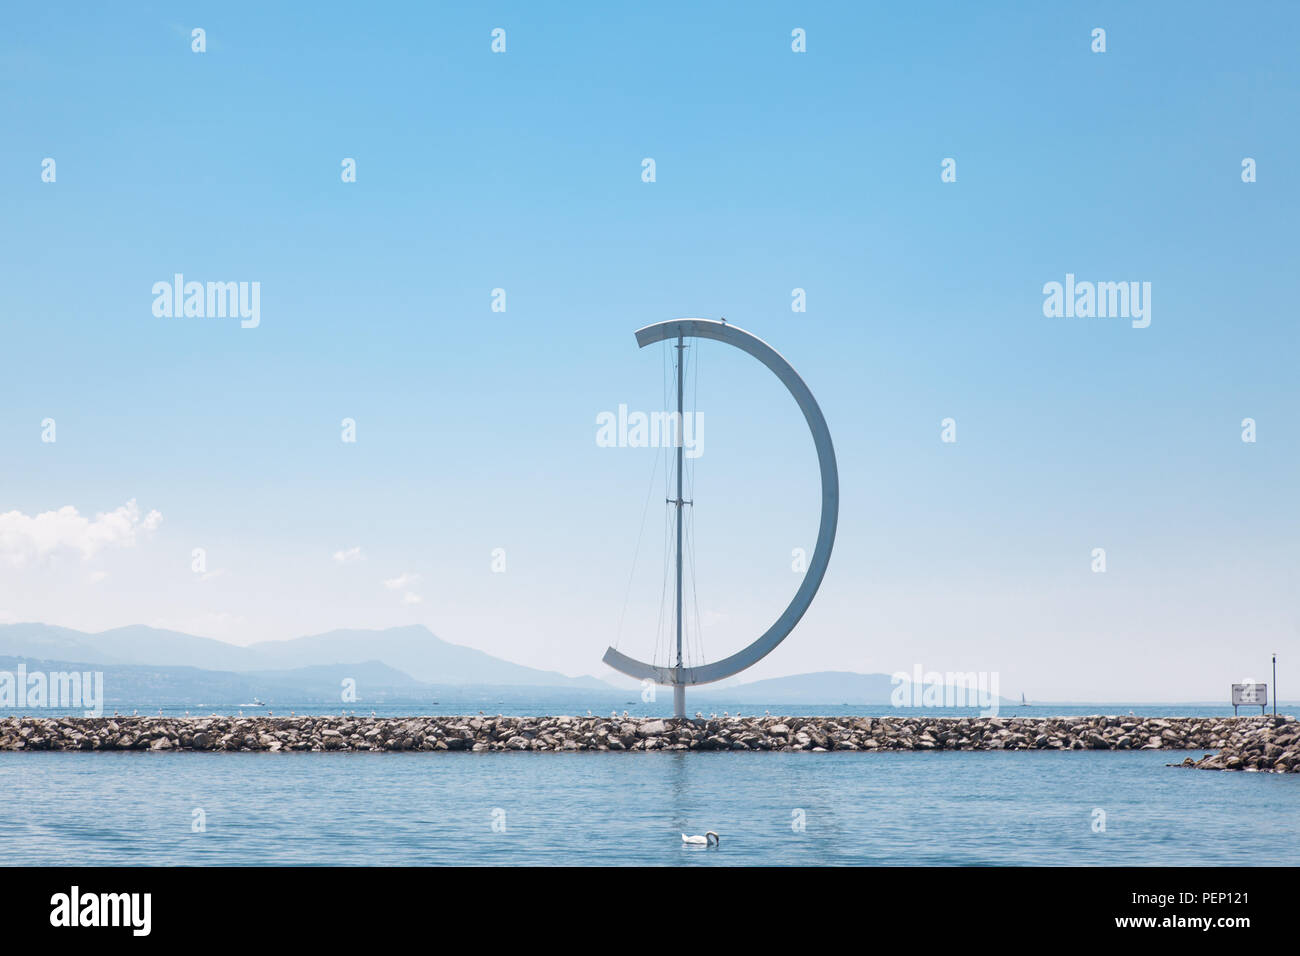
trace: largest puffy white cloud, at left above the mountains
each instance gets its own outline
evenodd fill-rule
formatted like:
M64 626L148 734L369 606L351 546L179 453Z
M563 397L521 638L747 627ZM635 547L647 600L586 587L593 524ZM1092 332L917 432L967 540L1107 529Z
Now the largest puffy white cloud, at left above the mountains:
M16 567L57 551L79 551L82 558L92 558L105 548L134 548L139 537L161 523L159 511L142 518L135 498L113 511L101 511L94 520L72 505L38 515L5 511L0 514L0 558Z

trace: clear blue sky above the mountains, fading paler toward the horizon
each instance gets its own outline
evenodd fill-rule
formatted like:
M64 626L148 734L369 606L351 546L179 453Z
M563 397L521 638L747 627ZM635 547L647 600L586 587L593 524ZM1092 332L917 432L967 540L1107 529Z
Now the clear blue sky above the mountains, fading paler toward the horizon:
M10 13L0 613L238 643L416 622L611 676L620 619L654 643L659 557L624 594L655 453L597 447L595 416L662 407L634 329L722 315L809 382L841 475L823 589L754 678L1226 698L1300 652L1300 12L699 7ZM260 282L260 326L156 317L177 272ZM1150 282L1149 328L1044 317L1067 272ZM793 594L816 473L775 378L698 359L715 658ZM161 523L90 557L16 544L12 512L133 499Z

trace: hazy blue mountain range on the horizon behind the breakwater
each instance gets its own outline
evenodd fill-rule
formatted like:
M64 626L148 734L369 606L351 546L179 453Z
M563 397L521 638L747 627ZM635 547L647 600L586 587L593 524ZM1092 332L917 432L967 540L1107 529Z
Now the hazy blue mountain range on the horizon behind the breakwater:
M594 676L569 678L451 644L421 626L339 630L239 646L179 631L135 624L86 633L52 624L0 626L0 670L100 670L105 704L125 706L233 705L254 698L338 702L341 682L356 682L359 701L430 701L439 696L590 698L608 705L636 691ZM885 674L823 671L731 687L694 697L755 704L888 704Z

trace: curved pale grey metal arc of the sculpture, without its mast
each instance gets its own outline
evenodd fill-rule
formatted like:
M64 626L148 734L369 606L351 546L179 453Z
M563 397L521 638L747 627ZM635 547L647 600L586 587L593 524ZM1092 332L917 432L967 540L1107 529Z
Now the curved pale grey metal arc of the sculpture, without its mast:
M628 676L640 680L653 680L656 684L708 684L738 674L740 671L758 663L776 649L785 637L800 623L800 618L812 604L816 589L826 576L827 564L831 562L831 548L835 545L835 528L840 518L840 472L835 463L835 446L831 444L831 432L826 427L826 419L818 407L809 386L800 378L790 363L777 354L772 346L734 325L714 319L673 319L655 325L646 325L637 330L637 345L645 349L647 345L662 342L666 338L712 338L727 345L733 345L741 351L746 351L767 365L781 380L781 384L794 395L794 401L803 412L803 419L812 432L812 444L816 446L818 464L822 470L822 523L816 532L816 546L812 550L812 559L809 562L803 583L794 593L789 606L776 619L762 637L749 646L736 652L731 657L699 667L656 667L644 661L628 657L627 654L610 648L604 652L604 663L621 671Z

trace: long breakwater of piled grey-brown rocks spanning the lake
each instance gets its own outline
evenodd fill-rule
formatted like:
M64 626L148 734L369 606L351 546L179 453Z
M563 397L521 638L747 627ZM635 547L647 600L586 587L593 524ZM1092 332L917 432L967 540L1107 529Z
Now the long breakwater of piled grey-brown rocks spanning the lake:
M1216 750L1182 766L1300 771L1294 718L0 718L0 750Z

